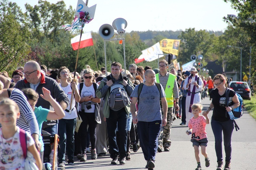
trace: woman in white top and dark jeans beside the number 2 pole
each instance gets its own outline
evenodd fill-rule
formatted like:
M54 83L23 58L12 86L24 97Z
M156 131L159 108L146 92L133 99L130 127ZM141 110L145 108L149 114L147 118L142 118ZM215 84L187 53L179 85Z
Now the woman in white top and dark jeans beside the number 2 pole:
M76 126L76 107L75 102L80 101L79 91L75 82L68 82L69 80L69 69L65 66L60 67L58 73L58 78L60 79L60 87L68 95L69 100L72 102L65 109L65 116L59 120L58 135L60 137L60 150L58 152L59 162L58 167L65 166L65 150L67 151L68 164L74 164L74 133ZM72 89L73 94L72 94Z

